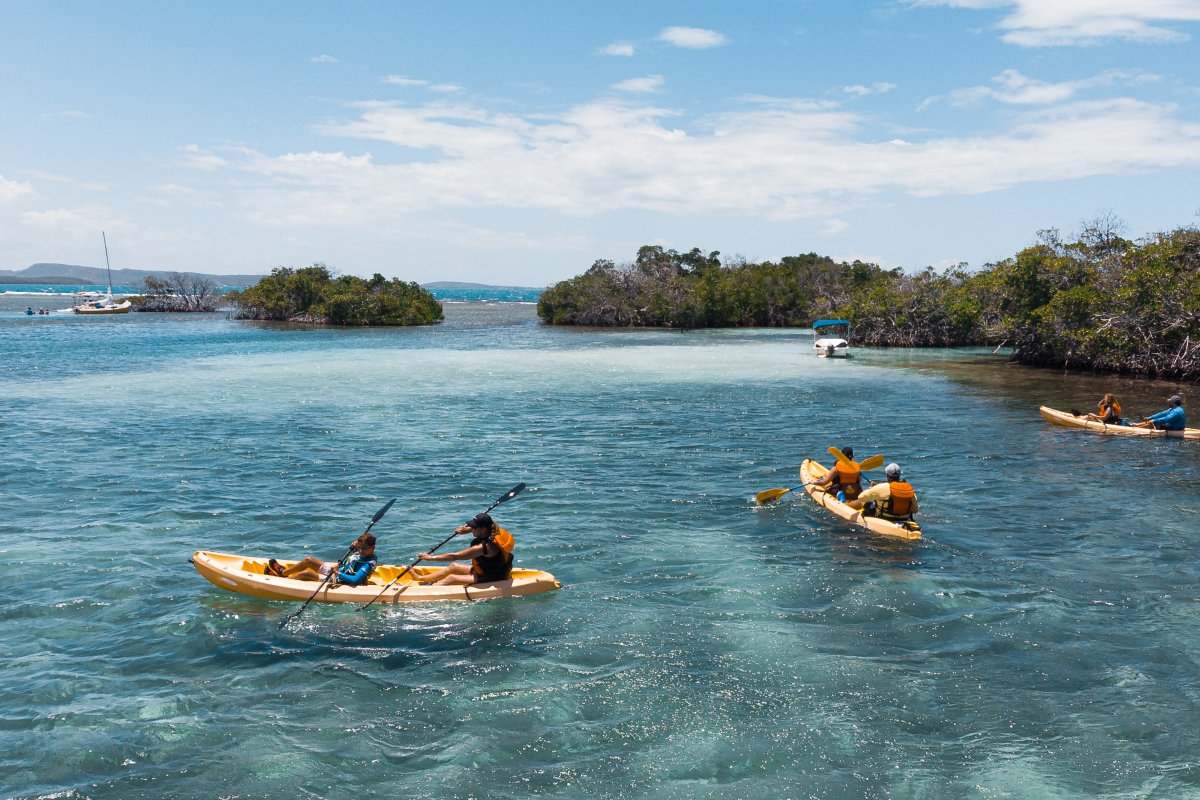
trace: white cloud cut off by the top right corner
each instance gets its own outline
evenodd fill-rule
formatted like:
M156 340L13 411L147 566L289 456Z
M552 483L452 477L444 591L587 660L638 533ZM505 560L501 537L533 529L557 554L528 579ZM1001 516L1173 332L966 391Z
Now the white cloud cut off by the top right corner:
M1182 42L1180 25L1200 22L1200 0L910 0L914 6L1007 8L1010 44L1048 47L1106 40Z

